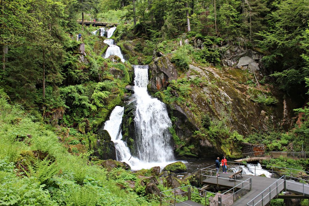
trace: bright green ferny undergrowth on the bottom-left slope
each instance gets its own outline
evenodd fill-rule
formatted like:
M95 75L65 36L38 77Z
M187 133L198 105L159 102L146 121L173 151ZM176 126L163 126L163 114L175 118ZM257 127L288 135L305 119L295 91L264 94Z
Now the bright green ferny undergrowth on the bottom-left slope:
M49 127L0 96L0 205L158 205L128 187L123 169L71 155Z

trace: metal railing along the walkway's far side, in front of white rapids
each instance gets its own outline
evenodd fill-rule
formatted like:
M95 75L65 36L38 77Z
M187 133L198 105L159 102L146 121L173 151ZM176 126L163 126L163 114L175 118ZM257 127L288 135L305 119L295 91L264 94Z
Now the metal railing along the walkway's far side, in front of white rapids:
M256 165L256 164L249 164L249 163L242 163L242 162L227 162L228 163L228 169L227 171L235 172L235 170L241 170L244 166L250 165L254 166L254 169L249 169L252 172L252 175L259 174L258 171L267 171L271 174L271 178L280 178L282 175L289 175L292 177L297 177L304 179L306 181L309 181L309 172L303 171L303 170L297 170L292 168L286 168L286 167L277 167L277 166L267 166L267 165ZM260 169L260 167L262 169ZM211 165L208 167L205 167L201 170L210 170L213 168L215 170L215 165Z

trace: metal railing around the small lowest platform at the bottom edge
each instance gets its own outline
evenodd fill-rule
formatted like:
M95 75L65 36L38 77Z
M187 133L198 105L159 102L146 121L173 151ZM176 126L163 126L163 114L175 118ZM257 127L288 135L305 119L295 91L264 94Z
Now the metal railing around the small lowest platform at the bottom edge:
M195 194L195 196L203 198L203 200L205 201L205 206L209 205L210 200L218 203L217 200L210 199L210 197L215 196L216 193L188 185L160 192L160 205L164 205L162 203L165 202L167 203L167 205L176 205L177 203L182 203L184 205L191 206L184 201L191 200L193 194Z

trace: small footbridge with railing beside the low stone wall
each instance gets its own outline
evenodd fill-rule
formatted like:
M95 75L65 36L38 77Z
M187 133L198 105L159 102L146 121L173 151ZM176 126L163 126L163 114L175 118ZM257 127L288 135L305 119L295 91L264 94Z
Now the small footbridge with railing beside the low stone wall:
M291 158L291 159L306 159L309 158L309 152L250 152L250 153L243 153L243 158L235 160L235 162L254 162L264 159L271 159L271 158Z

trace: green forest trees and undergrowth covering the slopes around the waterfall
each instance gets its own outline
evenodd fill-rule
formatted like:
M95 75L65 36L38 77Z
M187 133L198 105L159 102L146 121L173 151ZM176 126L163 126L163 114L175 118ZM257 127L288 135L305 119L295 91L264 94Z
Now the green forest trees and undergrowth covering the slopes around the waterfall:
M104 37L91 34L97 28L79 25L82 18L119 23L112 38L119 45L133 42L140 56L129 56L124 64L104 59ZM221 54L228 47L252 49L263 54L269 75L265 81L307 100L308 25L307 0L0 0L0 205L158 204L156 197L144 197L144 186L128 187L125 180L136 180L137 175L90 166L96 141L91 143L91 138L123 103L125 86L133 78L131 63L149 64L158 53L170 53L184 74L193 61L222 69ZM76 41L79 33L82 42ZM86 61L79 51L82 43ZM123 78L112 75L111 68ZM188 104L191 85L204 83L180 78L156 96L165 103ZM277 101L260 97L252 99L270 105ZM295 112L299 119L289 132L256 131L244 140L225 122L197 112L204 129L194 136L205 138L207 131L210 138L226 138L228 144L259 142L281 151L292 143L297 151L302 145L308 149L309 109ZM185 144L173 128L170 131L175 142ZM71 155L70 145L87 149L83 153L75 148L71 154L77 155ZM192 147L180 153L190 153Z

